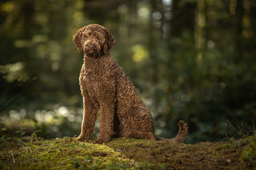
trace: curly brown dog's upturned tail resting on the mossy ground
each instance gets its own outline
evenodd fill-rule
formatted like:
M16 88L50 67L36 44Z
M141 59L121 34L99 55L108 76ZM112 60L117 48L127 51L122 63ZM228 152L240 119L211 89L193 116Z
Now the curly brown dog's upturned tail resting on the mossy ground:
M156 137L159 141L169 141L169 142L179 142L182 143L188 134L188 125L184 121L179 121L179 132L175 138L172 139L164 139Z

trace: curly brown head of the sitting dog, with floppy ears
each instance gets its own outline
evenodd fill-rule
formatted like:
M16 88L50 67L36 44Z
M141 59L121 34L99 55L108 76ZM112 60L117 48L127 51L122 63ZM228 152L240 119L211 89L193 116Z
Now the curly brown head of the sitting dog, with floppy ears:
M90 24L79 29L73 36L73 41L79 53L89 57L108 54L115 41L110 31L98 24Z

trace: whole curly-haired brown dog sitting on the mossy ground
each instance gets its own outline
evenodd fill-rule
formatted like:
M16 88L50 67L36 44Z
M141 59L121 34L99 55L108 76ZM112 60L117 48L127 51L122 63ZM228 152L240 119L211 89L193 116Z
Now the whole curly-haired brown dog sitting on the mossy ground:
M142 138L183 142L187 124L179 121L179 132L173 139L154 135L154 121L130 78L109 55L115 41L109 30L90 24L76 32L73 41L84 63L79 77L84 101L84 114L79 141L93 133L100 111L100 135L94 143L109 142L113 137Z

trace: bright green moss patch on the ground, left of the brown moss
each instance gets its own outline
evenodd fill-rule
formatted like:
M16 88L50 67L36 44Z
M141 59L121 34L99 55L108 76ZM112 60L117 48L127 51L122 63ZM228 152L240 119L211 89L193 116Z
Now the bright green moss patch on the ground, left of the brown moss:
M78 142L74 138L30 142L15 150L15 153L15 164L11 162L10 155L5 155L9 162L1 159L0 169L90 169L106 168L113 164L122 164L125 168L132 166L132 160L108 146Z

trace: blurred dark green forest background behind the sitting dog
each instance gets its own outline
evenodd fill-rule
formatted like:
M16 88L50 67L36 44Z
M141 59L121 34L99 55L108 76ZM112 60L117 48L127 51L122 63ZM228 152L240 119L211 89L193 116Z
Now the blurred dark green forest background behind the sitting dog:
M181 119L188 143L255 134L255 0L2 0L0 135L20 135L22 116L25 136L79 135L83 54L72 39L91 23L114 35L110 54L157 135L174 137Z

